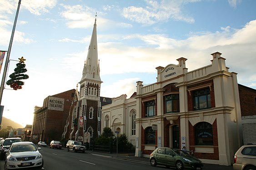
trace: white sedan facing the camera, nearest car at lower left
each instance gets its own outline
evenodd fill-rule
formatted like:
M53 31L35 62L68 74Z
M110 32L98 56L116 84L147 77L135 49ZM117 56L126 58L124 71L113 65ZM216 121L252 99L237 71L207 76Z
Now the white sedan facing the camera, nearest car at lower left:
M15 142L5 150L5 170L21 168L39 168L44 165L43 156L32 142Z

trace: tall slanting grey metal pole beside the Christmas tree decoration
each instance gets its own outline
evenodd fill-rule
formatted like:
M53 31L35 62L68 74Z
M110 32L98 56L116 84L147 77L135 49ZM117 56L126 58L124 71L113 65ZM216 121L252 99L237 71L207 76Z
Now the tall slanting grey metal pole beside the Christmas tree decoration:
M4 68L3 78L2 78L1 87L0 87L0 104L2 102L2 97L3 97L5 78L6 78L6 73L7 73L8 63L9 63L8 61L10 58L10 50L11 50L15 27L16 27L16 23L17 23L17 19L18 19L19 10L20 10L20 3L21 3L21 0L19 0L19 3L18 3L18 8L17 8L17 12L16 12L16 16L15 16L15 20L14 20L14 24L13 24L13 28L12 28L12 33L11 33L11 37L10 37L10 44L9 44L9 48L8 48L7 56L6 56L6 60L5 60L5 68Z

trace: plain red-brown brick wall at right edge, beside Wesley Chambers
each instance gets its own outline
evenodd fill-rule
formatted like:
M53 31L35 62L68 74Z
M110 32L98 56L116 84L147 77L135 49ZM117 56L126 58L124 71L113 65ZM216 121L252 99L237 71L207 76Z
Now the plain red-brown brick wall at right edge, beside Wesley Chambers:
M241 116L256 115L256 90L238 84Z

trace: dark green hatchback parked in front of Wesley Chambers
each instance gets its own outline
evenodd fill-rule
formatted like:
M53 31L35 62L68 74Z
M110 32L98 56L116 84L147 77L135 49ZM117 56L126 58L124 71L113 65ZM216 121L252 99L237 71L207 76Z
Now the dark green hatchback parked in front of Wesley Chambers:
M150 154L151 166L164 165L167 168L176 167L177 170L202 170L201 160L179 149L160 147Z

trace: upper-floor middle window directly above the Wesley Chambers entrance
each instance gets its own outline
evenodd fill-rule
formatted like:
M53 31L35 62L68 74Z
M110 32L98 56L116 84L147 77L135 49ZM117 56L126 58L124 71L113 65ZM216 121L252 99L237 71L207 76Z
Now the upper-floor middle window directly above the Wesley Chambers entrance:
M179 94L170 94L165 96L166 113L180 112Z

